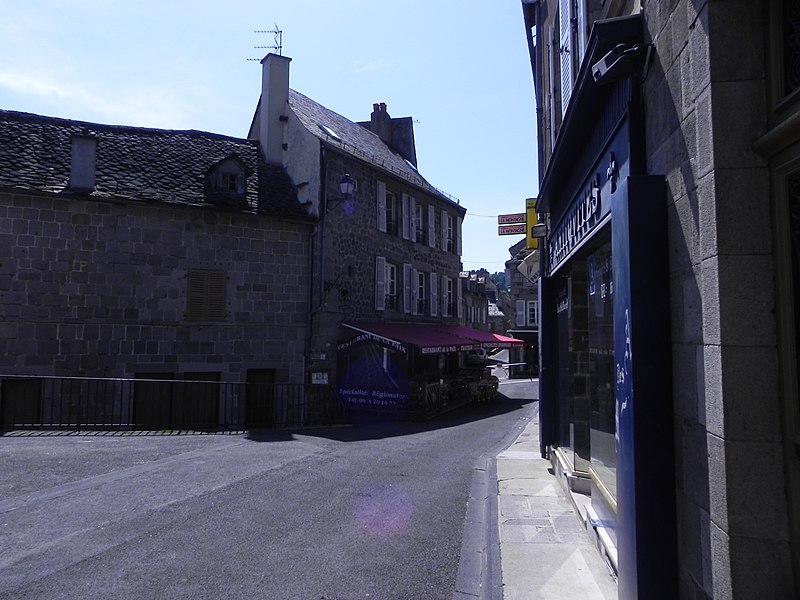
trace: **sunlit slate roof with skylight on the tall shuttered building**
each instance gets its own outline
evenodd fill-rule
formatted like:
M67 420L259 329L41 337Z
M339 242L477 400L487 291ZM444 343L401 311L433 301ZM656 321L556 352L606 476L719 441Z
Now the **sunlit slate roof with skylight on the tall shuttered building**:
M449 202L459 203L449 194L431 185L413 165L399 154L392 152L366 127L346 119L293 89L289 90L289 106L312 135L330 146L388 171ZM329 131L322 126L327 127Z

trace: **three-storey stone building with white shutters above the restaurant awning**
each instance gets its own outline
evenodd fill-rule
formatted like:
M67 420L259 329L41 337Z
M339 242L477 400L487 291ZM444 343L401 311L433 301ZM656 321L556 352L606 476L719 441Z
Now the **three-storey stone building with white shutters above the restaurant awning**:
M463 318L466 209L420 174L411 118L393 118L385 103L376 103L369 121L350 121L291 89L290 61L275 54L262 61L248 137L260 140L270 164L285 167L301 204L319 217L308 381L335 384L346 403L361 402L355 396L362 393L407 399L409 386L422 385L409 381L412 355L419 355L415 374L437 374L440 381L465 349L480 343L440 327ZM355 344L361 362L351 377L354 338L376 347L362 351ZM391 357L402 363L402 392L392 387ZM366 380L389 387L365 392Z

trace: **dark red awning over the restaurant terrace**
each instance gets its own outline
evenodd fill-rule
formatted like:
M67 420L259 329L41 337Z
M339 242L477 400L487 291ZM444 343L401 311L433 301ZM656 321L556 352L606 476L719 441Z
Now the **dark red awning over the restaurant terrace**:
M416 346L422 354L478 348L510 348L524 344L522 340L463 325L435 323L342 323L342 325L384 343Z

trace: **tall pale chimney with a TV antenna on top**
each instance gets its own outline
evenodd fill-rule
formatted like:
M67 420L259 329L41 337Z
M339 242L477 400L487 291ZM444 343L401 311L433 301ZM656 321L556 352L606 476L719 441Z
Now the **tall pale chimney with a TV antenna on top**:
M261 61L261 105L258 139L264 158L283 165L286 120L289 113L289 62L291 58L267 54Z

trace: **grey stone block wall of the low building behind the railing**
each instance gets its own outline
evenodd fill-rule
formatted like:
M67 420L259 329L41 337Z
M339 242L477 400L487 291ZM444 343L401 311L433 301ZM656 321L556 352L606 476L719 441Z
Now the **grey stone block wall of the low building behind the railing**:
M203 207L0 194L0 373L275 369L302 382L311 227ZM186 318L189 269L226 274L222 321Z

